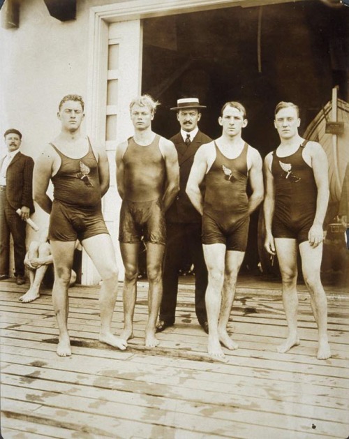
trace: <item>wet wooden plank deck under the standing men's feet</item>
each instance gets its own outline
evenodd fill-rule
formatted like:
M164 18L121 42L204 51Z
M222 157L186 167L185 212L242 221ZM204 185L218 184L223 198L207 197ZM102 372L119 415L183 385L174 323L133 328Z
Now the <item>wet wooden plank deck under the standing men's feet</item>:
M34 438L267 438L349 436L349 295L329 291L333 357L316 359L309 295L300 288L301 345L276 352L285 336L277 283L239 283L228 363L206 355L193 285L181 285L177 321L144 347L147 283L138 285L135 338L126 351L97 341L98 288L70 290L72 357L55 354L49 290L31 304L26 285L1 281L1 433ZM114 329L122 327L121 285Z

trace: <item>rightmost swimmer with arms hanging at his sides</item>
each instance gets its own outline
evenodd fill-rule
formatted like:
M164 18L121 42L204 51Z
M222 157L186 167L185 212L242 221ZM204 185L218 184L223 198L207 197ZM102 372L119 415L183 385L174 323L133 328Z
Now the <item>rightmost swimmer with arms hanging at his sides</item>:
M288 337L278 351L299 345L297 329L297 251L318 325L318 359L331 357L327 336L327 299L320 280L322 225L329 200L327 156L318 142L298 133L299 108L276 105L274 126L280 144L265 157L265 248L278 256Z

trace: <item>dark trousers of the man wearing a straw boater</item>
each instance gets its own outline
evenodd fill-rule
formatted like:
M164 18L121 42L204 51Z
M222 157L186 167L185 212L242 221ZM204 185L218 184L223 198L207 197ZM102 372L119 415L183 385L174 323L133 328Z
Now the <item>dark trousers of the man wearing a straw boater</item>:
M167 243L163 267L163 298L160 320L175 320L179 269L184 254L189 254L195 269L195 313L200 323L207 321L205 292L207 268L201 242L201 223L167 223Z

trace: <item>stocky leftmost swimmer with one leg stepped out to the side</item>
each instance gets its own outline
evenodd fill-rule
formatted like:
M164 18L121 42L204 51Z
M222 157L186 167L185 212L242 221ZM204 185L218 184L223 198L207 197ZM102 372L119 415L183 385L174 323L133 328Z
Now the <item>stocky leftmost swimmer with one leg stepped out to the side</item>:
M99 295L99 341L124 350L126 341L114 336L111 329L117 300L118 269L101 211L101 198L109 188L107 154L81 133L84 119L81 96L64 96L57 117L61 122L61 132L47 145L34 166L34 200L50 214L48 239L54 262L52 301L59 327L57 354L61 357L71 355L67 327L68 288L77 239L103 281ZM46 193L50 180L54 186L53 202Z

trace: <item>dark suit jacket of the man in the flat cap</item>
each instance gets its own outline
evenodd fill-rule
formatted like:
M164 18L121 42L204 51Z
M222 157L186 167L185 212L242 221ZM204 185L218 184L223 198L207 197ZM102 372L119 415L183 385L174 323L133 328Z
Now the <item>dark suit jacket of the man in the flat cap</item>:
M0 167L3 159L0 161ZM6 171L6 198L13 209L27 206L34 213L33 202L33 168L31 157L18 152L8 165Z

